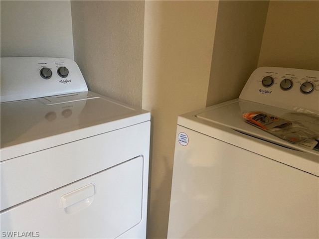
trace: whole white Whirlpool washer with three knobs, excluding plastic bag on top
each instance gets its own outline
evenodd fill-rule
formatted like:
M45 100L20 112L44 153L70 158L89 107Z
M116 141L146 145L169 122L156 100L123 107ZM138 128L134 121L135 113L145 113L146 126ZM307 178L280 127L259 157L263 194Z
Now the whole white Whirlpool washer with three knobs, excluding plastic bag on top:
M168 238L319 238L319 141L276 137L249 111L318 114L319 72L261 67L239 99L178 117ZM318 115L292 115L319 131Z

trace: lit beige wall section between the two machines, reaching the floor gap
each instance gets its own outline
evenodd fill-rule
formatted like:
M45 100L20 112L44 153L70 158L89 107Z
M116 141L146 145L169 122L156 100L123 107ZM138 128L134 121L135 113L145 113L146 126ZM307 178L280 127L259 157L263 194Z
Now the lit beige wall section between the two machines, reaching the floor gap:
M205 107L218 1L146 1L143 104L153 116L147 238L166 238L177 115Z

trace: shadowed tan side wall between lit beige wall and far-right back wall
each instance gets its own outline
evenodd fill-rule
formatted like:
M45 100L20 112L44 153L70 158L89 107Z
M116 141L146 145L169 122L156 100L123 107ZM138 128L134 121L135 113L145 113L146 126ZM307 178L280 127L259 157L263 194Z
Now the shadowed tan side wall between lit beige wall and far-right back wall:
M220 1L207 106L239 97L257 68L269 1Z

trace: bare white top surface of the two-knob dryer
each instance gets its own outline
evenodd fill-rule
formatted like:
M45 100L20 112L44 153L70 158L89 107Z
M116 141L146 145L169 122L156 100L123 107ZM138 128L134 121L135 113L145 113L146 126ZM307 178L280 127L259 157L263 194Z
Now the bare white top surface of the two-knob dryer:
M1 161L148 120L93 92L1 103Z

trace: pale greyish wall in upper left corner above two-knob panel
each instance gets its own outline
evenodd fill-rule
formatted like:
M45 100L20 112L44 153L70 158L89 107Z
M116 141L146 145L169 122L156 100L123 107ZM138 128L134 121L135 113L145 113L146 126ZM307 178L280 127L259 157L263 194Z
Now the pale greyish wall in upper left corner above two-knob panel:
M74 59L69 0L2 0L0 4L1 57Z

